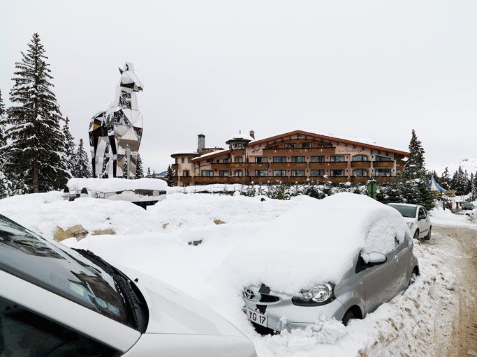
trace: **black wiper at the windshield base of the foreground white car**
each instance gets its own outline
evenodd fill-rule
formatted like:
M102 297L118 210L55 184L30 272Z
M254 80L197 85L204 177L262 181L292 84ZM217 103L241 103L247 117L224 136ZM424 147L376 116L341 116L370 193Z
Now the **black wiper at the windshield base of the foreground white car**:
M131 284L131 280L124 275L121 271L119 271L115 266L112 266L103 258L98 257L91 252L91 250L85 249L75 249L80 255L86 257L87 259L94 262L94 264L100 266L106 273L112 276L112 279L115 282L117 290L121 291L122 296L124 297L124 302L126 303L126 308L129 310L129 317L130 322L134 328L139 327L138 321L138 312L137 309L139 307L137 298L133 291L133 287Z

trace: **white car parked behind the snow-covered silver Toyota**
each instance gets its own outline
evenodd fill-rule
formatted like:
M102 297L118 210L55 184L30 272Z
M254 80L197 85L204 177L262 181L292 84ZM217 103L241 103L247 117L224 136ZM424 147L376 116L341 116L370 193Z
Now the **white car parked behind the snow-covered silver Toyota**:
M431 238L432 222L427 210L418 204L388 204L396 208L407 222L407 227L411 231L414 239Z

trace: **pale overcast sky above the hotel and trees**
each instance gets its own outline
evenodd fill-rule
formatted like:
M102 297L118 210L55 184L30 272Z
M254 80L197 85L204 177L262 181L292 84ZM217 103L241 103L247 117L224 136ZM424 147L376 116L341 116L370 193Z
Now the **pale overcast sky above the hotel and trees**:
M477 1L2 1L0 89L34 32L76 139L135 64L156 171L170 153L295 129L477 157Z

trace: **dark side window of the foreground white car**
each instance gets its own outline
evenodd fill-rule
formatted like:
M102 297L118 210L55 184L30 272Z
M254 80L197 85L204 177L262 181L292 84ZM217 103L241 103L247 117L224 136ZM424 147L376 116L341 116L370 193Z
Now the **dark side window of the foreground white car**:
M108 346L0 298L0 356L117 355Z

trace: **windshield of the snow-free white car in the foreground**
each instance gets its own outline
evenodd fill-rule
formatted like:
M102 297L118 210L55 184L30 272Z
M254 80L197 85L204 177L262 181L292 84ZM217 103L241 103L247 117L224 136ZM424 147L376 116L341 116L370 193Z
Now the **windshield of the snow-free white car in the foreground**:
M47 241L0 215L0 270L138 328L137 319L131 316L133 288L124 289L127 278L118 279L120 272L116 274L106 264Z

